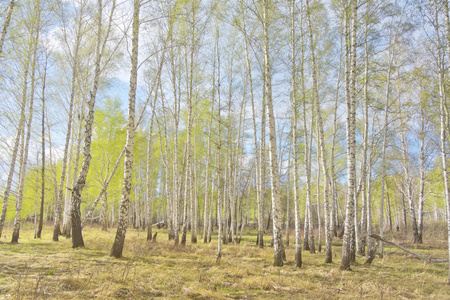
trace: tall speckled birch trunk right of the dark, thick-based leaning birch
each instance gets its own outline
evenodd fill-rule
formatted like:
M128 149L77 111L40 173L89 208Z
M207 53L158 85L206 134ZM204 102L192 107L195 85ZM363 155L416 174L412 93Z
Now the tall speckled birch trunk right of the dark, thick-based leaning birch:
M128 93L128 123L127 123L127 143L125 150L123 190L120 200L119 221L117 225L116 237L111 249L110 256L119 258L122 256L123 245L125 243L125 234L128 225L128 208L130 206L130 192L133 167L133 147L135 131L135 106L136 106L136 87L137 87L137 67L138 67L138 41L139 41L139 9L140 0L134 0L133 9L133 37L131 52L131 74L130 91Z

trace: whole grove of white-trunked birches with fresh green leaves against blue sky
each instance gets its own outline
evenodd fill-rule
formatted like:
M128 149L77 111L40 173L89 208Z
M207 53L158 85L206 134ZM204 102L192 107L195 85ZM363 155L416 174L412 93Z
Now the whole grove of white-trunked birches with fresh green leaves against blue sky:
M0 0L0 235L450 235L447 0ZM9 228L8 227L8 228ZM201 236L201 238L198 238ZM266 238L266 240L264 240ZM303 239L303 240L301 240ZM450 240L449 240L450 250ZM379 255L383 255L380 242Z

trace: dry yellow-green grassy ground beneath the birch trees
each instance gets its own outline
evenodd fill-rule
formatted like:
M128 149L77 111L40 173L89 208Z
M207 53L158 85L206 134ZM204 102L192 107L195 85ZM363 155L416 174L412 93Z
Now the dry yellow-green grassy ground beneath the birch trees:
M52 242L50 230L34 239L25 224L19 244L1 238L0 299L450 299L447 263L427 264L390 246L371 265L357 257L352 271L340 271L342 240L335 239L332 264L324 263L323 251L303 251L298 269L291 236L287 262L273 267L270 237L260 249L249 230L240 244L223 246L217 264L217 240L190 244L188 237L187 246L174 246L164 230L155 231L156 243L129 229L123 258L115 259L109 256L113 229L87 227L86 247L72 249L70 239ZM403 245L428 257L448 257L445 240Z

